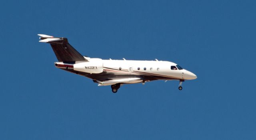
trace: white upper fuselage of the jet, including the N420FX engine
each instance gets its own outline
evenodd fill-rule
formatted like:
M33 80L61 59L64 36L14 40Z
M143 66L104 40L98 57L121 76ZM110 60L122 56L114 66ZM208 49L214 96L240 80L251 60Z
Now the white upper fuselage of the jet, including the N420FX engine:
M102 60L100 58L87 58L88 61L78 61L73 64L74 70L89 74L100 74L102 72L114 72L115 75L150 75L161 77L161 80L192 80L196 75L185 69L178 69L177 64L168 61L141 61L141 60ZM56 62L56 64L65 64ZM176 69L171 69L174 66ZM58 66L57 66L58 67ZM117 76L115 78L118 79ZM113 78L114 79L114 78Z

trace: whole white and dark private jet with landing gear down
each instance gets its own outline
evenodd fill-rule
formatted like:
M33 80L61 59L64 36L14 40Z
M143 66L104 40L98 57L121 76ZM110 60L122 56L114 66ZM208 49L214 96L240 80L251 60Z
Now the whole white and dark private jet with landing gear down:
M58 62L56 68L85 76L98 83L98 86L111 86L116 93L123 84L135 84L154 80L179 80L179 90L182 82L196 79L192 72L168 61L141 61L141 60L102 60L82 56L69 43L67 38L58 38L45 34L38 34L39 42L49 43L52 46Z

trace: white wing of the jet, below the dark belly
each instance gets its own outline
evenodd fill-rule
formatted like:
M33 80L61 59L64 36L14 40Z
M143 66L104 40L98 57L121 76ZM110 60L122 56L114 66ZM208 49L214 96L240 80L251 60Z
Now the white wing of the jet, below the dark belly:
M140 83L142 81L143 80L141 78L122 78L122 79L97 81L97 82L99 83L98 86L109 86L109 85L118 84L118 83L134 84L134 83Z

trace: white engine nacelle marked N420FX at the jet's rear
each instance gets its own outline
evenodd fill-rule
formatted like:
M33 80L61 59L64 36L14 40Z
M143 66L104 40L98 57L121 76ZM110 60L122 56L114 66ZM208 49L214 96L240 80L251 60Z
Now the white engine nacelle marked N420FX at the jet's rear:
M98 74L103 72L103 61L98 58L91 58L89 62L74 64L74 70L86 72L90 74Z

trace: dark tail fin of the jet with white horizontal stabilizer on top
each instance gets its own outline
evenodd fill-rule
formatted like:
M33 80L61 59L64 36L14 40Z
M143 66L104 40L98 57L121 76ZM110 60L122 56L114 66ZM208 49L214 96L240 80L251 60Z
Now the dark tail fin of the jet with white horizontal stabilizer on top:
M45 34L38 34L39 42L50 43L59 62L88 61L69 43L67 38L55 38Z

